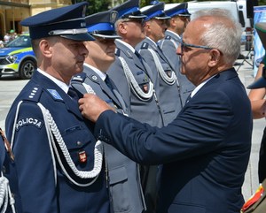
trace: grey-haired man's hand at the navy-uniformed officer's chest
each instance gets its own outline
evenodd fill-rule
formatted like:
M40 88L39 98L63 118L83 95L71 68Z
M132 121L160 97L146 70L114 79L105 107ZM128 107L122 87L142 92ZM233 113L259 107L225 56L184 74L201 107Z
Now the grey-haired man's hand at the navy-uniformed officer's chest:
M105 110L114 110L109 104L98 98L97 95L92 94L85 94L79 100L79 104L82 116L92 122L96 122L100 114Z

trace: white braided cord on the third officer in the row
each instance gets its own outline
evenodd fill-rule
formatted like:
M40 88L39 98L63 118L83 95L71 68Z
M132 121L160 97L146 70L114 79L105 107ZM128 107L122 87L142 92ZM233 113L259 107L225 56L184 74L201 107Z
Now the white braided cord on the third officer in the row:
M149 82L149 91L148 93L143 92L143 90L139 87L137 80L135 79L134 75L129 69L129 65L125 61L124 58L118 57L121 60L121 65L123 67L123 71L125 73L125 76L129 82L129 85L137 97L142 101L148 101L153 96L153 82L150 80Z

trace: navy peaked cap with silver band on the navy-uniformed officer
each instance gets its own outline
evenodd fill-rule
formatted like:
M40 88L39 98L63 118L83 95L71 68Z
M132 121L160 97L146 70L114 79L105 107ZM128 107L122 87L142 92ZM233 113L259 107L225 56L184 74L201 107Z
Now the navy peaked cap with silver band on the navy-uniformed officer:
M22 20L20 25L29 27L31 39L60 35L75 41L92 41L94 38L87 32L85 23L87 5L82 2L43 11Z

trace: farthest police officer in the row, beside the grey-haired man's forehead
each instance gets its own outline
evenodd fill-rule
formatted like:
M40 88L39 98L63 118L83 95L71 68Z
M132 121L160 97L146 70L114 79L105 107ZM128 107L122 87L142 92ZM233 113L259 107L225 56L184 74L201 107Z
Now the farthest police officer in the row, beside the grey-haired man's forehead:
M180 72L180 56L176 54L176 49L181 42L184 29L191 19L191 13L187 10L187 3L171 6L164 11L171 19L166 21L168 28L165 31L165 37L160 40L159 46L176 71L176 76L180 84L180 95L184 105L187 96L192 92L194 86L192 82L187 80L185 75Z

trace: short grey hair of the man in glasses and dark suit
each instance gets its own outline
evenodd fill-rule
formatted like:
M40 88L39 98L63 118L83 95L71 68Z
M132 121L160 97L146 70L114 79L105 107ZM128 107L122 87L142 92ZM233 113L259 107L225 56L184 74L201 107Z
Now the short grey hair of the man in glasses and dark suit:
M225 63L234 64L239 57L241 46L242 28L239 22L232 18L231 11L218 8L196 11L194 19L207 16L213 17L215 21L207 31L201 34L200 42L208 47L219 49L223 53Z

